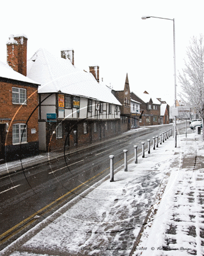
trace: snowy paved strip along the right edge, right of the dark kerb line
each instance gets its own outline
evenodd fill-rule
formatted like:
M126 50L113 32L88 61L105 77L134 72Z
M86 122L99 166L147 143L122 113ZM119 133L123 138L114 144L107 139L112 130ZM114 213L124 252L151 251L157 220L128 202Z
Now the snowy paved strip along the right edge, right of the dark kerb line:
M183 165L172 168L161 203L153 207L158 211L150 215L134 256L204 255L203 140L195 134L180 139Z

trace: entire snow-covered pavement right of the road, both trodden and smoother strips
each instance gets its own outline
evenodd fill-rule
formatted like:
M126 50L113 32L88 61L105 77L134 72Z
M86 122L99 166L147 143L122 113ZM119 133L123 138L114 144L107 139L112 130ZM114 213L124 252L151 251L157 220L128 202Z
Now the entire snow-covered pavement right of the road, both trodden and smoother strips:
M170 137L137 164L130 160L128 172L115 170L115 182L104 178L0 255L202 255L203 153L201 136L181 135L177 148Z

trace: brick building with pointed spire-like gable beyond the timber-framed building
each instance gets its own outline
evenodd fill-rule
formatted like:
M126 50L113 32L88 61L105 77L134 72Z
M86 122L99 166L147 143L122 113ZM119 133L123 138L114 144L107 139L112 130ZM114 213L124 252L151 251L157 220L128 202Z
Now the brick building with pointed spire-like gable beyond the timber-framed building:
M125 86L121 91L112 90L112 94L121 102L121 131L130 130L130 86L128 73L126 74Z

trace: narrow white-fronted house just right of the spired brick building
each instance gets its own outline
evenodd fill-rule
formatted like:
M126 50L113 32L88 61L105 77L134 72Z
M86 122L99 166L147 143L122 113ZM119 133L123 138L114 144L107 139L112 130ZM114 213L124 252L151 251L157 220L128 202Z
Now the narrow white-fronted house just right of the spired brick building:
M130 98L130 123L131 129L140 127L140 105L139 101L134 101L134 99Z

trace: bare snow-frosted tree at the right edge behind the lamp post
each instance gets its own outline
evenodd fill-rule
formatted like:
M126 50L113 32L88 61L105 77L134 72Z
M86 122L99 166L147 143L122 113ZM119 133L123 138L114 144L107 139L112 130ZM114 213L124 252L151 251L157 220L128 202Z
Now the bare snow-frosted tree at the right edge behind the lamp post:
M187 60L182 74L178 74L183 92L182 99L204 118L204 45L203 35L192 37L187 48ZM203 127L204 129L204 127ZM204 133L203 133L204 136Z

